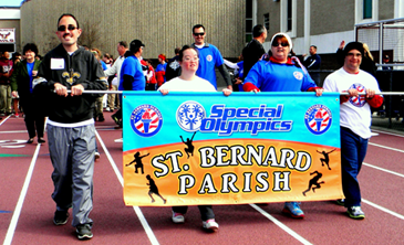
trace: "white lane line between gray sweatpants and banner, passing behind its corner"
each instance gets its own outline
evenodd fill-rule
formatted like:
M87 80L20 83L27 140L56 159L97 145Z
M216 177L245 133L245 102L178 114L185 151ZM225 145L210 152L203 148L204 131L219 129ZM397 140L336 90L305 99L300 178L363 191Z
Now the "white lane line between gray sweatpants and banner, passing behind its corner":
M101 137L100 137L100 135L99 135L99 132L96 130L95 130L95 135L96 135L96 138L99 138L99 141L100 141L102 148L104 149L104 152L106 155L106 158L110 160L110 163L111 163L111 166L112 166L112 168L113 168L113 170L114 170L114 172L115 172L115 174L116 174L116 177L117 177L117 179L121 182L121 185L123 188L124 187L124 179L123 179L120 170L117 169L114 159L110 155L108 149L106 149L104 141L101 139ZM143 228L145 230L145 232L147 234L147 237L151 241L151 243L153 245L158 245L159 243L157 241L157 237L154 235L153 230L151 228L151 226L148 225L145 216L142 213L142 210L138 206L133 206L133 210L135 211L138 220L141 221L141 224L143 226Z

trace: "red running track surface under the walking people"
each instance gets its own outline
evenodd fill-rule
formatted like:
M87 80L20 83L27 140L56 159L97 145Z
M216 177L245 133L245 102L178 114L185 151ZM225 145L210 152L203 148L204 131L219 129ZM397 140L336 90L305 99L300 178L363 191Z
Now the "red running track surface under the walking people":
M122 130L114 128L111 113L104 114L106 121L96 122L101 159L94 172L91 213L94 237L85 244L404 244L403 137L377 131L380 136L371 139L359 177L366 214L363 221L349 219L345 209L331 201L302 203L304 220L282 215L281 203L257 207L262 212L253 209L255 205L222 205L214 207L219 232L206 233L195 206L189 209L185 224L176 225L170 221L169 207L141 207L143 219L133 207L124 205L120 180L122 143L114 142L121 138ZM4 118L0 124L0 140L28 139L23 118ZM4 148L7 145L11 142L0 141L0 241L4 244L83 243L75 237L71 219L62 226L52 223L55 206L51 199L52 164L48 143L39 148L38 159L34 158L37 141L22 143L22 148ZM115 164L117 174L113 170ZM30 166L33 166L32 177L27 181L27 195L22 199L20 194ZM17 215L19 199L22 205Z

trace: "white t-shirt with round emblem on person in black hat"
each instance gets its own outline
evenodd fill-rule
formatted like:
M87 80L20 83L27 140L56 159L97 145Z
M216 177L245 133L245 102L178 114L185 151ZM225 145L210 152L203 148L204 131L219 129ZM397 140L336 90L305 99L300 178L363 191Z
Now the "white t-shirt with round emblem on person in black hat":
M377 81L369 73L360 70L358 74L350 74L342 67L330 74L323 88L325 92L348 92L356 88L359 92L366 92L366 88L380 93ZM350 97L340 106L340 125L351 129L360 137L371 138L371 107L366 102L365 95Z

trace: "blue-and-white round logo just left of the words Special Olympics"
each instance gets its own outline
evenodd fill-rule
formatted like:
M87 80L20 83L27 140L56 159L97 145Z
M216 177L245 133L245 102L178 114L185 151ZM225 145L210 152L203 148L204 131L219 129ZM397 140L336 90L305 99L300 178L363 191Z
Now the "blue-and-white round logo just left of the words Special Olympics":
M205 117L205 108L197 102L185 102L177 109L177 124L185 131L197 131Z

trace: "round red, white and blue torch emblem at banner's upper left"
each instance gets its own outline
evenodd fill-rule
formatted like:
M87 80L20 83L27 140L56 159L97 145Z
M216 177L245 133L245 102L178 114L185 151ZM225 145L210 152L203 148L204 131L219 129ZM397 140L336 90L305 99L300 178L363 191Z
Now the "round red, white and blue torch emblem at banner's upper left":
M162 113L152 105L138 106L131 114L131 126L137 135L152 137L163 126Z

